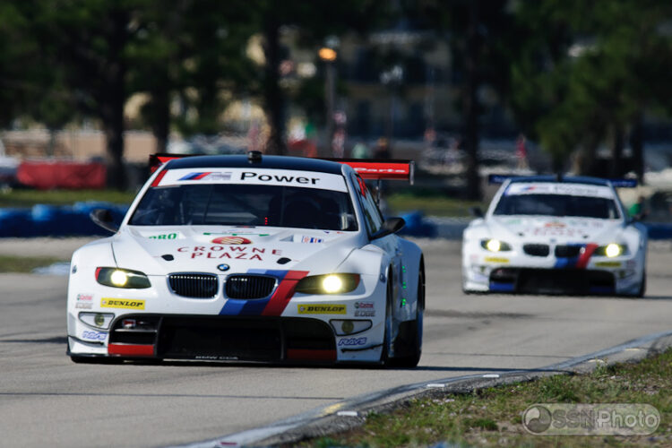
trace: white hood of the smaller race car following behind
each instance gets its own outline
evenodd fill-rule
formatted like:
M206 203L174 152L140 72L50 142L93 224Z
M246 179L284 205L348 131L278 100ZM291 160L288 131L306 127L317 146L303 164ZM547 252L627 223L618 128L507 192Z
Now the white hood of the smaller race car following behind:
M504 241L543 243L602 243L614 241L623 230L621 220L576 217L492 217L490 235Z

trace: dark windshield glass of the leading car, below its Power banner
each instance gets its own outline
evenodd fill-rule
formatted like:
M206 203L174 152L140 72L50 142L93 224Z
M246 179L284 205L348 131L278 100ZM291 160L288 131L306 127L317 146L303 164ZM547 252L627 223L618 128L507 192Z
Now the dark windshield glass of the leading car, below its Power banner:
M132 226L275 226L357 230L349 195L281 185L199 184L150 188Z

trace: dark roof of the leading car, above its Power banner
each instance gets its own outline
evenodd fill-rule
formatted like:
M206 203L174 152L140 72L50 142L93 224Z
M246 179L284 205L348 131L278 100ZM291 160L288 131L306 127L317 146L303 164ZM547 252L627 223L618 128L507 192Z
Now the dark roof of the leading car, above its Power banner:
M271 168L341 174L338 162L306 157L266 156L251 162L246 155L194 156L168 160L166 169L177 168Z

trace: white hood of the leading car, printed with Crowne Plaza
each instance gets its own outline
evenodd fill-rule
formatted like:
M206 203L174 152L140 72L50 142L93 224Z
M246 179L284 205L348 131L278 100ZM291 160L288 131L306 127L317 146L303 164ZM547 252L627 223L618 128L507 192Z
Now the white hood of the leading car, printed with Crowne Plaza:
M251 270L326 273L338 268L357 241L357 232L301 228L129 226L113 239L112 249L118 267L147 275Z

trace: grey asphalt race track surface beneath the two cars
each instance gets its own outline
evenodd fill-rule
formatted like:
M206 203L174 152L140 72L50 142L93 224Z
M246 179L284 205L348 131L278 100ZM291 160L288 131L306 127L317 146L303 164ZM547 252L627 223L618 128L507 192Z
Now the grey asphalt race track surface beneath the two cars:
M167 446L271 424L366 392L450 376L536 369L672 330L672 246L650 246L643 299L464 296L460 244L426 256L417 369L76 365L65 356L65 277L0 274L0 446ZM77 242L0 242L54 254ZM60 251L60 252L59 252Z

